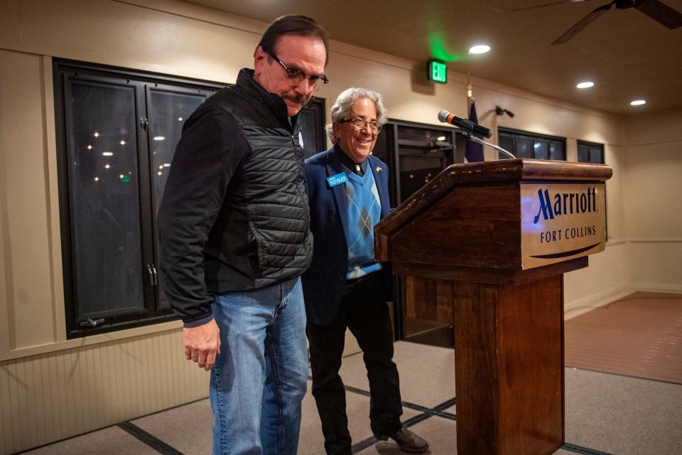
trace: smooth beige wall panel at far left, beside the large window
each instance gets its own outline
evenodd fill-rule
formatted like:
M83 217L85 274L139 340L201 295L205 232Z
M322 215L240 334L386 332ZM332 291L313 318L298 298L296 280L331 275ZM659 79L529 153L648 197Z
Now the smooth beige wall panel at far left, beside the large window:
M54 339L42 58L0 50L0 188L9 348Z

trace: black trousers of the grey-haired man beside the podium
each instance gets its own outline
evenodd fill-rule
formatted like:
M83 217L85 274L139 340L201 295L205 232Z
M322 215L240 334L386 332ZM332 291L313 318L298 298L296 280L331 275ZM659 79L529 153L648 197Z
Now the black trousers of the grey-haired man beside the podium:
M369 378L369 420L374 436L398 432L403 413L398 369L393 362L393 330L382 272L345 284L339 312L328 324L308 323L313 397L329 455L350 455L346 395L339 375L346 327L362 349Z

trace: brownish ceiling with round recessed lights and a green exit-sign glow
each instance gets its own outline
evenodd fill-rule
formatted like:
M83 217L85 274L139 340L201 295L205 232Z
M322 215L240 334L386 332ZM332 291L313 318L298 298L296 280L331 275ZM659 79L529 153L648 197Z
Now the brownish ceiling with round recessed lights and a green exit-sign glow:
M411 60L444 58L458 73L618 114L682 107L682 27L615 7L561 45L570 26L610 0L514 9L552 0L183 0L270 22L305 14L330 38ZM556 0L554 0L556 1ZM568 0L566 0L568 1ZM682 0L662 0L682 11ZM471 45L492 50L467 55ZM332 76L332 75L331 75ZM333 76L332 76L333 77ZM595 87L575 84L592 80ZM629 105L643 98L647 104Z

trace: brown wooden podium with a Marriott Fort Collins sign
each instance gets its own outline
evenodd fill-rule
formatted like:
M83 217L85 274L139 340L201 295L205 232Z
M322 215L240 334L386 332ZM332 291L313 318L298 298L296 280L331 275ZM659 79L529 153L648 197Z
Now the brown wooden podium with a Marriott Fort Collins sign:
M564 442L563 273L605 248L603 164L453 164L381 220L408 316L453 323L458 455ZM596 279L596 278L595 278ZM416 289L431 299L409 299Z

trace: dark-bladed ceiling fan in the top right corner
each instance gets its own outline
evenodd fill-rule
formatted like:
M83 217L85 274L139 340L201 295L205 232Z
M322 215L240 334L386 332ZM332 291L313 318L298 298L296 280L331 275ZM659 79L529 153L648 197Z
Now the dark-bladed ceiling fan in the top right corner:
M543 8L545 6L553 6L564 3L577 3L578 1L588 1L588 0L556 0L550 1L548 3L538 4L534 6L525 6L522 8L511 9L512 12L522 11L527 9ZM573 27L569 28L563 35L559 36L552 42L553 45L565 43L566 41L577 35L578 32L583 30L595 21L596 18L604 14L606 11L612 9L613 6L617 9L630 9L634 8L640 11L646 16L654 19L654 21L663 24L668 28L678 28L682 26L682 14L676 9L672 9L670 6L664 4L659 0L613 0L609 4L600 6L599 8L592 11L590 14L580 19Z

